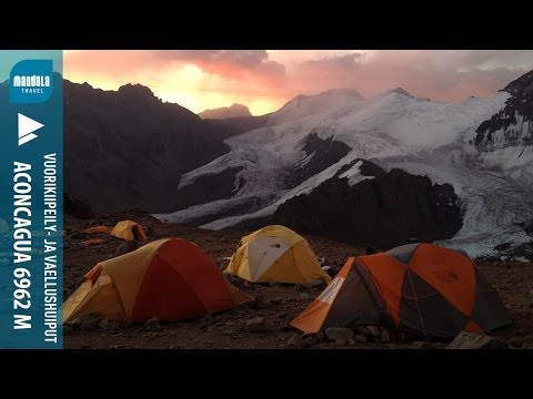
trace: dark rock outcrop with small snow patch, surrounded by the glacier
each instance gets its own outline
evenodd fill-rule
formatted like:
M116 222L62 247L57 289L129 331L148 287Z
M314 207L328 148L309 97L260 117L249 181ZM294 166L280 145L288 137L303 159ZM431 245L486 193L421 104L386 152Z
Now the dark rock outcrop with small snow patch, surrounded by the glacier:
M461 208L450 184L433 185L428 177L401 170L384 172L362 160L334 177L308 195L288 200L271 222L379 248L446 239L461 228Z

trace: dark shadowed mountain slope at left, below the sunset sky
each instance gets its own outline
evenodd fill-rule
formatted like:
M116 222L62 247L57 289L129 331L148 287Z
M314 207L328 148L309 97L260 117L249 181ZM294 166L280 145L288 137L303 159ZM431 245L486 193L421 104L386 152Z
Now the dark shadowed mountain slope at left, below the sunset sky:
M103 91L66 80L64 191L97 213L173 211L180 176L229 152L223 140L258 123L203 121L139 84Z

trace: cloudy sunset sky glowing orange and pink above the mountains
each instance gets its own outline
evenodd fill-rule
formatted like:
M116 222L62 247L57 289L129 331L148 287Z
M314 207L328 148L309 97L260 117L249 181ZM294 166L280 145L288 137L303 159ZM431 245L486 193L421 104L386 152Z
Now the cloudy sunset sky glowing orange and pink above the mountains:
M63 64L73 82L107 90L141 83L193 112L241 103L254 115L330 89L485 96L532 69L526 50L80 50L66 51Z

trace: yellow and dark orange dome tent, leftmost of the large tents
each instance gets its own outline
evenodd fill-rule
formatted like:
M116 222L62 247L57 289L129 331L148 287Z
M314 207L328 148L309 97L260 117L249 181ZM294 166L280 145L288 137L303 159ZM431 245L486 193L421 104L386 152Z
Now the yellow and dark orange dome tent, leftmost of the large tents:
M152 317L173 321L249 300L197 245L165 238L89 270L86 282L63 304L63 323L90 315L119 321Z

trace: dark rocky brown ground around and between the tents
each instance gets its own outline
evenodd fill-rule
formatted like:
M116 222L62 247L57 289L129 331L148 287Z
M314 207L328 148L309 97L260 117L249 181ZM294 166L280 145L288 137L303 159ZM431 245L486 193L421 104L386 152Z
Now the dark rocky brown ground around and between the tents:
M195 227L163 224L142 212L115 214L103 218L78 219L66 215L64 219L64 296L98 262L123 253L128 244L105 234L86 234L95 225L114 225L131 218L147 231L150 241L164 237L189 239L203 248L220 268L225 267L239 239L247 232L211 232ZM84 246L90 238L103 242ZM363 254L362 248L320 237L306 237L324 265L338 270L346 256ZM515 325L494 334L494 338L465 335L453 342L454 347L511 347L533 348L533 267L526 263L480 262L479 267L497 288L505 306L512 313ZM289 326L300 311L319 295L321 287L292 285L249 284L239 278L232 283L255 301L242 305L212 317L164 324L151 320L143 325L119 325L108 320L83 320L66 327L64 348L103 349L185 349L185 348L379 348L424 349L444 348L450 342L422 342L378 328L334 329L326 334L302 336Z

